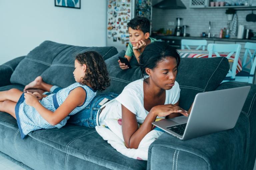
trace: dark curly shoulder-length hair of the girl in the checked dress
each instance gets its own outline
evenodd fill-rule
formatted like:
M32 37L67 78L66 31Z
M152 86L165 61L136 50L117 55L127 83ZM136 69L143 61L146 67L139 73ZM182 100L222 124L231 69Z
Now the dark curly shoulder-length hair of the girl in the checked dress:
M76 56L81 65L85 64L85 76L81 78L81 84L89 83L94 90L103 91L110 86L108 70L102 56L96 51L86 51Z

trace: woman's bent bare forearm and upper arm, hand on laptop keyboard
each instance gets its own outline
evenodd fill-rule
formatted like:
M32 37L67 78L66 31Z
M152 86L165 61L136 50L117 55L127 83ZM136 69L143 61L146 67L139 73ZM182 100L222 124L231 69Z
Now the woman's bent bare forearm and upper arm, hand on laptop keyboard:
M172 113L181 113L188 116L187 112L178 106L172 104L159 105L150 110L139 128L136 115L122 105L122 132L126 147L137 149L143 137L152 130L152 122L156 120L156 117L164 117Z

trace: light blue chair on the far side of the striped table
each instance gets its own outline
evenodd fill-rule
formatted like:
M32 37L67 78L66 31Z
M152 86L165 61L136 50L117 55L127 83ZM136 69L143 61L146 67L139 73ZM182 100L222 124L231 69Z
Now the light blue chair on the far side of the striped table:
M207 45L206 40L187 40L187 39L182 39L181 40L181 49L191 49L190 46L197 46L196 50L200 49L202 47L203 50L205 50L205 46Z

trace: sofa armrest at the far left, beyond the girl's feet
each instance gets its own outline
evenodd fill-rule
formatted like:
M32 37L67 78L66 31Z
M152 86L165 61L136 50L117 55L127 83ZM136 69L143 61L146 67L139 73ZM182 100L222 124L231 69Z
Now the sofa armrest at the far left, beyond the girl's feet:
M17 65L19 64L19 62L24 57L25 56L17 57L0 65L0 87L11 84L10 82L11 75L14 72Z

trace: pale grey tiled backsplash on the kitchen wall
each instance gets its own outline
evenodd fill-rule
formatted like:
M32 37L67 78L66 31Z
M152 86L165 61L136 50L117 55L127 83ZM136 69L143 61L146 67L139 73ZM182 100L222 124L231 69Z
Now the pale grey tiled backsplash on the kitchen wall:
M200 36L202 32L208 33L209 21L211 21L211 34L215 34L216 37L219 36L220 29L227 27L227 15L225 14L226 9L216 8L216 9L194 9L189 8L189 0L182 0L187 9L170 9L162 10L153 8L152 11L152 30L158 30L160 28L172 28L174 31L174 26L169 26L168 22L176 22L176 18L183 18L182 24L188 25L187 33L190 36ZM237 11L238 25L245 25L246 29L251 29L256 32L256 23L246 22L245 18L247 14L252 11ZM255 12L256 13L256 12ZM235 38L231 34L231 38Z

